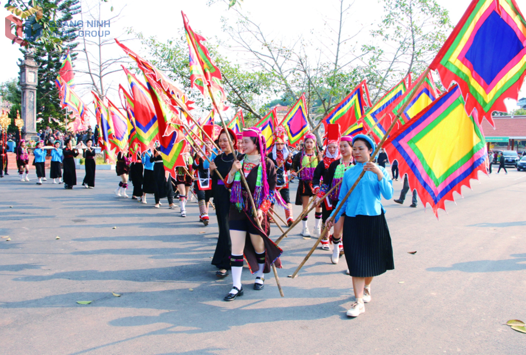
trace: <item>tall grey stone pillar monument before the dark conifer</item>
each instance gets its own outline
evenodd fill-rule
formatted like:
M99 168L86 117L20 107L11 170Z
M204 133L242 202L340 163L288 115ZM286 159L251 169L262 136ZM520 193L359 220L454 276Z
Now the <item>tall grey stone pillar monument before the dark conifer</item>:
M38 140L36 135L36 87L38 85L38 67L34 49L29 48L20 60L20 86L22 89L22 114L24 120L24 139Z

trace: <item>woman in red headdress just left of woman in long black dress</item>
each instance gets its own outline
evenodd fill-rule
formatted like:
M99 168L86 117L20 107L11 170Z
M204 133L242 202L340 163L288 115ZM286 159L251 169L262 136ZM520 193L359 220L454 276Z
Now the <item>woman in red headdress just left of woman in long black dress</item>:
M209 137L213 137L214 126L208 124L203 126L203 129ZM214 153L212 142L206 136L203 137L203 142L205 143L203 147L204 153L210 161L213 161L216 154ZM194 191L196 191L197 202L199 203L199 222L203 222L207 226L210 220L208 217L208 202L212 196L212 184L210 180L210 163L203 157L203 150L196 149L197 152L194 155L192 168L196 175Z

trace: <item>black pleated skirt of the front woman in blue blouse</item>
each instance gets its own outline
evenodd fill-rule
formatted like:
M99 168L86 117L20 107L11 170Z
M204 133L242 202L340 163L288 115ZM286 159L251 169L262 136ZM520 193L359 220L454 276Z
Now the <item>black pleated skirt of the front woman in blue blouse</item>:
M395 269L391 236L383 213L345 216L342 241L351 276L372 277Z

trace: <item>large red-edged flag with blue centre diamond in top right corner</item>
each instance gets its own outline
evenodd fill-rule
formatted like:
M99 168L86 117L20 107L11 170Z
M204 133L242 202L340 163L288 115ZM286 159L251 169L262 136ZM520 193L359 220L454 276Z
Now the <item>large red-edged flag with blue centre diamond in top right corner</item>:
M526 21L514 0L473 0L429 66L442 84L458 83L469 114L477 109L494 126L492 111L506 112L526 75Z

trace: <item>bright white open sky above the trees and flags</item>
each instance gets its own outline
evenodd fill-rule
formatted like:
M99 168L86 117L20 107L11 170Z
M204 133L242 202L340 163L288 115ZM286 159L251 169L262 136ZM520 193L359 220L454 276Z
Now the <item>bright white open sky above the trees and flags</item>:
M93 0L88 1L93 3ZM226 40L227 37L221 28L221 17L228 19L234 14L228 11L226 3L219 1L208 6L209 1L108 0L108 3L103 5L105 6L103 18L105 16L109 18L115 12L122 10L118 23L110 27L109 36L112 38L124 38L126 30L133 28L145 36L156 36L159 40L164 41L178 36L183 27L180 12L184 11L196 32L208 38L217 37ZM4 2L1 2L0 5L2 7L0 15L3 17L11 14L4 9ZM350 4L350 1L346 3ZM439 0L439 3L449 11L451 22L456 24L466 11L470 0ZM519 6L522 5L521 3L524 3L522 7L526 8L526 1L518 0ZM83 0L83 7L85 5L87 4ZM320 33L326 32L325 23L336 22L339 16L339 1L337 0L244 0L241 6L242 11L249 12L250 18L260 24L270 36L278 38L285 35L290 40L301 36L307 41L314 41ZM115 12L109 12L109 7L113 7ZM377 27L382 11L382 6L377 0L356 0L352 5L352 15L348 19L346 30L356 33L363 29L363 34L368 33L370 29ZM180 37L177 39L181 40ZM129 41L126 45L138 54L146 54L138 41ZM0 68L2 68L0 69L0 82L16 78L19 72L18 59L22 58L18 45L12 45L9 39L3 37L0 39L0 53ZM116 45L108 46L107 53L108 56L115 57L122 55L122 51ZM230 55L229 59L235 60L236 58ZM79 68L83 66L82 63L76 65ZM76 74L77 82L85 82L86 79L82 74ZM109 85L118 86L118 83L122 83L123 86L126 84L124 74L116 74L109 80ZM78 91L87 104L91 102L87 86L79 87ZM513 102L508 102L508 104L509 108L515 108Z

